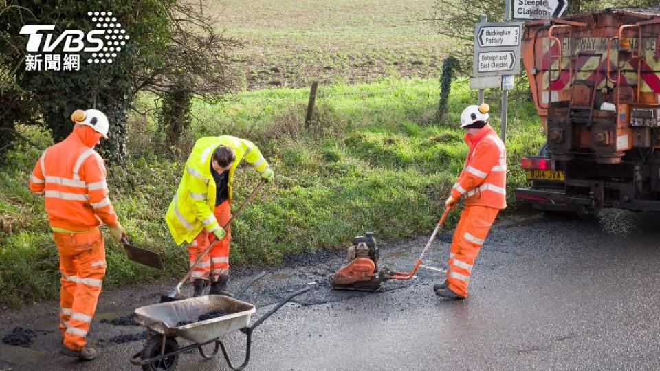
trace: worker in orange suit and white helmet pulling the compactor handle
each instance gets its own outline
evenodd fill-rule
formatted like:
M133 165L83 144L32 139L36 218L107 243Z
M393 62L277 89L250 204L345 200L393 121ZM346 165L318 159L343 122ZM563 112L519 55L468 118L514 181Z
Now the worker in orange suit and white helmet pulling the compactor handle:
M469 151L445 206L453 207L466 195L465 208L454 231L447 280L433 286L437 295L450 299L467 297L474 260L497 213L507 207L507 152L487 123L488 111L488 104L481 104L468 106L461 114Z

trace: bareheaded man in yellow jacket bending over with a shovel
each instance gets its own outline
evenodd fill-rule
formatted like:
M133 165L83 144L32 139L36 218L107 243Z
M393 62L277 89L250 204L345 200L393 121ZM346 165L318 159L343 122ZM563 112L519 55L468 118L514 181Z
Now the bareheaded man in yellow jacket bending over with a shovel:
M273 178L273 170L252 142L230 135L197 140L167 210L170 233L177 244L188 245L191 266L217 238L209 254L192 271L193 296L203 295L209 282L210 294L227 294L231 235L230 228L225 232L223 225L230 219L234 172L243 158L262 178Z

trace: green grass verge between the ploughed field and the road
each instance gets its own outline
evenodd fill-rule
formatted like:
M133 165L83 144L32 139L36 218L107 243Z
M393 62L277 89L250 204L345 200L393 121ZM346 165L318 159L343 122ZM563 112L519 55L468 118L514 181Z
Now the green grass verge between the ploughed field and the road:
M245 92L220 105L197 101L192 129L181 146L166 151L178 153L175 157L162 155L151 117L132 117L131 159L125 166L109 166L111 200L135 244L162 251L167 268L161 273L135 265L108 241L104 286L184 273L187 252L174 245L163 216L192 142L204 135L252 140L276 172L276 181L232 225L232 265L277 264L298 251L345 246L366 231L380 240L430 232L467 151L455 123L465 105L476 100L465 83L454 84L445 122L437 123L437 85L436 80L384 79L321 86L309 126L303 123L307 89ZM492 112L498 116L498 104L492 104ZM496 117L492 123L498 128ZM542 142L531 102L520 98L510 104L508 128L511 191L524 181L520 157L536 153ZM23 130L40 146L49 144L47 133ZM0 172L0 300L14 305L58 293L57 253L43 200L27 190L40 153L21 146ZM258 181L254 170L242 166L236 202Z

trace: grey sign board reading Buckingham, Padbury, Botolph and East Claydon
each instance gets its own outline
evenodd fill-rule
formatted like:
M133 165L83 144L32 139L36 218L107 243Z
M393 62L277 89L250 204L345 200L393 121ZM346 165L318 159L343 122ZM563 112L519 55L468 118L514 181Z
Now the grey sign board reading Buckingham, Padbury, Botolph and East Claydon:
M519 22L476 23L472 77L520 74L520 36Z

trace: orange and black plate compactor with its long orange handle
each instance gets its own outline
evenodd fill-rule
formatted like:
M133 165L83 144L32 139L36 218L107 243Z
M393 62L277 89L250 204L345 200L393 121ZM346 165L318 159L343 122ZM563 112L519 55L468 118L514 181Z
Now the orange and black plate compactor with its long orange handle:
M349 264L344 265L344 267L341 267L336 273L330 276L330 285L336 290L376 291L380 289L380 284L387 280L410 280L410 278L415 276L417 268L421 265L424 256L426 256L428 249L431 247L431 243L452 208L445 208L445 212L435 226L431 237L426 243L426 247L421 252L412 271L391 271L387 267L383 267L379 271L379 250L376 245L376 239L373 237L372 232L366 232L365 236L353 238L353 245L347 251Z

